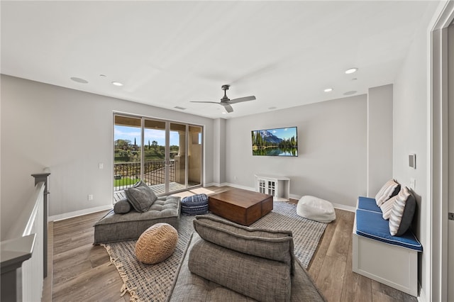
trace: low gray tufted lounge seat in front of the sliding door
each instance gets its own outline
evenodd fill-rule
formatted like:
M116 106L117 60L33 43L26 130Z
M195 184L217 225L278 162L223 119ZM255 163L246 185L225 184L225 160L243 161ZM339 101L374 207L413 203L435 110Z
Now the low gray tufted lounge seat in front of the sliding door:
M94 224L94 245L138 239L155 223L168 223L178 230L179 212L177 196L157 198L145 213L131 210L126 214L116 214L112 210Z

